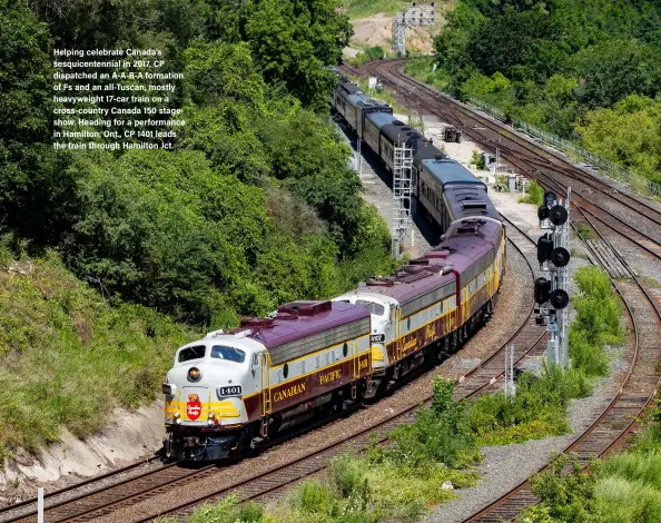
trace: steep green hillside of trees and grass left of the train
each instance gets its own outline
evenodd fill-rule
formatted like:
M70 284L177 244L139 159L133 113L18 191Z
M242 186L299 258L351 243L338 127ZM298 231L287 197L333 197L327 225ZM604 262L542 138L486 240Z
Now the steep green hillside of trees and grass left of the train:
M206 329L391 270L328 114L336 8L0 0L0 455L148 404ZM53 47L162 52L172 150L53 148Z

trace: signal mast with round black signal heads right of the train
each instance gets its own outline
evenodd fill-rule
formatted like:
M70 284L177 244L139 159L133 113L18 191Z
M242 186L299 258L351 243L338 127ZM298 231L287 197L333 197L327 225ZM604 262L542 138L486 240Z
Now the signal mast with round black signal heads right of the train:
M540 270L549 274L551 279L540 277L535 280L535 302L539 304L537 323L546 325L549 342L546 356L556 365L569 365L569 314L566 306L570 297L569 287L570 263L569 228L570 228L570 195L564 205L554 193L544 193L544 201L537 209L540 228L546 229L537 240L537 262Z

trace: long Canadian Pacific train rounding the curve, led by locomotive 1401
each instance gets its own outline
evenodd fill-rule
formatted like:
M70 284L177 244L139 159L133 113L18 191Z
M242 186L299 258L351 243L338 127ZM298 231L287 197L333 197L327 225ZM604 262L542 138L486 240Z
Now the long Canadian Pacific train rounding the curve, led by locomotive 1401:
M332 300L282 305L177 349L162 385L168 456L224 458L378 396L493 312L505 233L486 187L356 86L342 82L334 99L386 166L389 149L412 146L418 201L443 228L441 245Z

